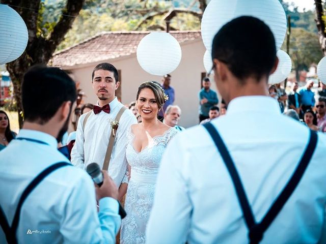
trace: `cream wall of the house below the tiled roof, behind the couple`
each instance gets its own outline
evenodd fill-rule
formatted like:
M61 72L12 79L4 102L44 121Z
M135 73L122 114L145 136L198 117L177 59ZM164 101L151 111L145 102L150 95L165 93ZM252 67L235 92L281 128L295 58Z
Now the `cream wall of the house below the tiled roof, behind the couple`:
M201 72L205 72L203 56L205 52L201 39L181 44L182 59L178 68L171 73L171 86L175 89L176 99L174 104L179 105L182 114L180 126L191 127L197 125L198 119L198 92L201 87ZM138 64L135 54L128 57L113 60L103 60L113 64L121 70L122 81L122 103L128 104L135 100L138 86L147 80L161 82L160 76L153 76L146 73ZM87 65L84 67L64 67L73 72L76 82L80 82L80 88L86 94L85 103L96 103L96 96L91 85L93 68L102 62ZM212 80L212 89L216 90ZM219 100L220 97L219 97Z

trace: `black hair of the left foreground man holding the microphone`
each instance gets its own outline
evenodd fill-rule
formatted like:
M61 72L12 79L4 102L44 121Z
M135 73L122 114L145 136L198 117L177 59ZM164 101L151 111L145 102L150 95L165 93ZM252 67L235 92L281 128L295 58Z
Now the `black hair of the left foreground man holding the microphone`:
M21 86L24 119L45 124L60 106L76 100L76 85L60 68L34 66L25 73Z

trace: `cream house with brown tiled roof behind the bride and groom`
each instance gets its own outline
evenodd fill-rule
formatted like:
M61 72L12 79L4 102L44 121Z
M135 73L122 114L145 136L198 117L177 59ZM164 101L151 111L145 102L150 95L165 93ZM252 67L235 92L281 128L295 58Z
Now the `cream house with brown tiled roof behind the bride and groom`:
M123 104L135 100L138 86L147 80L161 82L162 77L145 72L137 61L139 42L150 32L106 32L82 43L55 53L49 64L71 72L73 78L86 95L84 103L95 103L91 81L93 68L102 62L113 64L119 71L120 88L117 97ZM171 85L175 89L174 104L182 109L180 125L197 125L201 80L206 76L203 65L205 47L200 31L171 31L182 50L178 68L171 73ZM212 89L216 90L214 82ZM220 99L221 100L221 99Z

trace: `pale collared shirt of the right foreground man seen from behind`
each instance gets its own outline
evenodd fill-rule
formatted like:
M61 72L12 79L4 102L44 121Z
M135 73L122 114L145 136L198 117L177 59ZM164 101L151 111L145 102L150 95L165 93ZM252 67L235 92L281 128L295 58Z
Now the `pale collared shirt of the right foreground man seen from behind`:
M241 123L239 123L241 121ZM220 132L257 221L287 184L308 143L308 128L280 113L273 98L233 99L211 122ZM277 128L277 129L275 129ZM326 243L326 135L261 243ZM322 230L322 228L324 228ZM162 158L147 243L248 243L233 182L203 126L179 133Z

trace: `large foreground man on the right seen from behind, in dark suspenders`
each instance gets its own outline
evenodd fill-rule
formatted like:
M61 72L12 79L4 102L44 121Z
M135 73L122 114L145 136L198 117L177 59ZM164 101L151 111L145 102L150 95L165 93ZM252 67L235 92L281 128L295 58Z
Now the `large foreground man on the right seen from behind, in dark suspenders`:
M212 70L228 113L168 145L147 243L326 243L326 136L268 97L276 51L254 17L215 35Z

